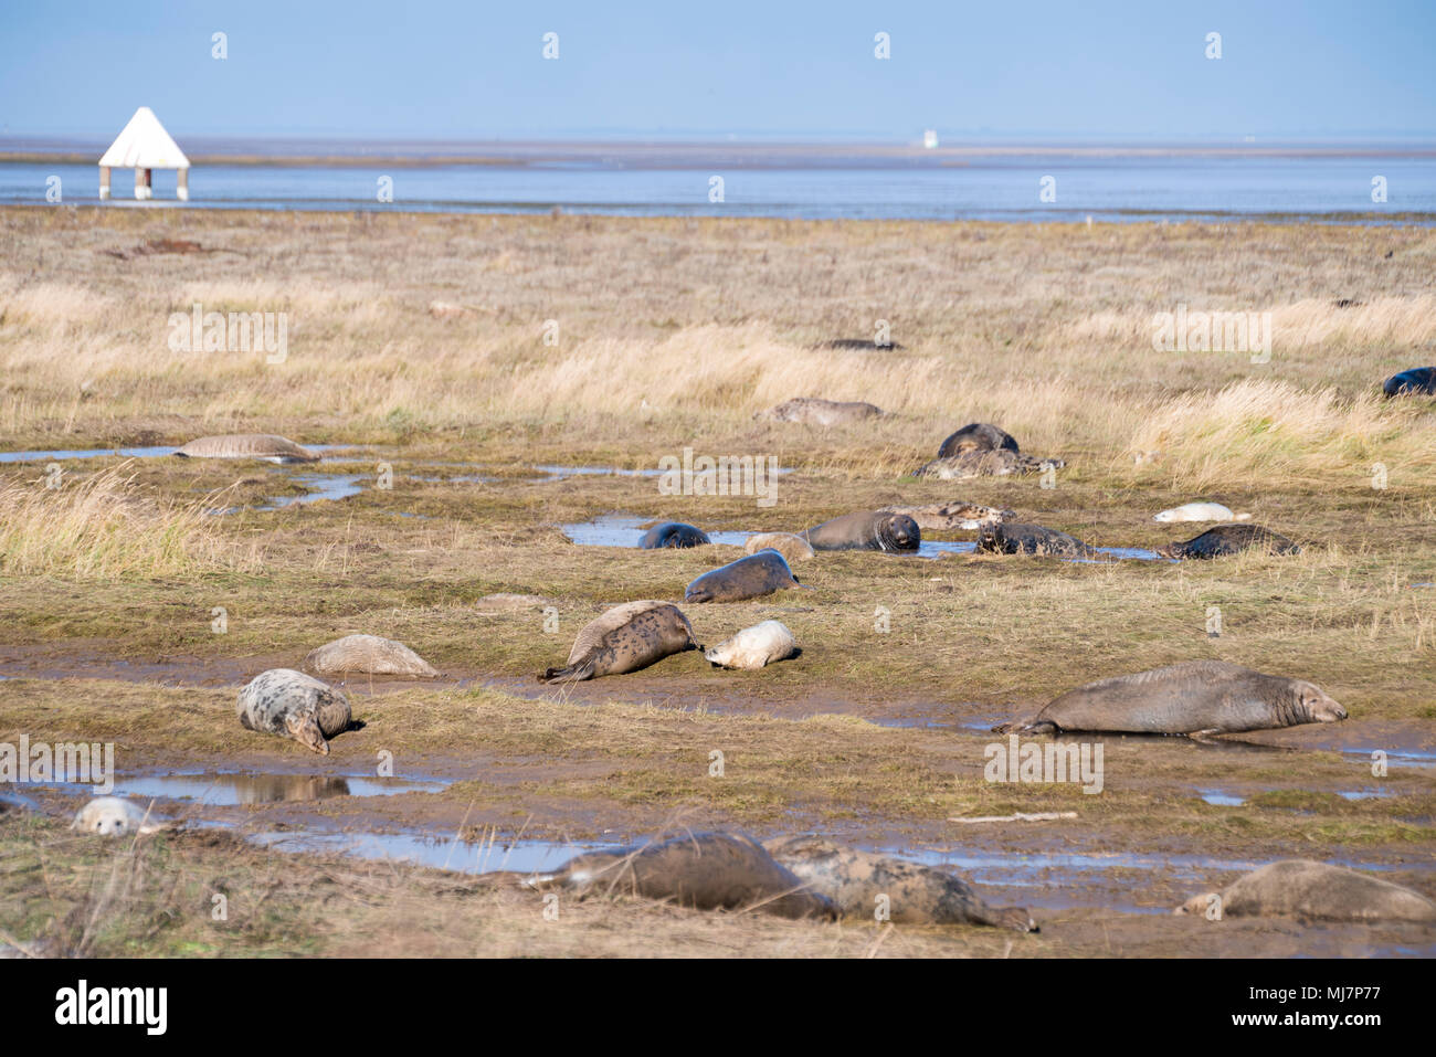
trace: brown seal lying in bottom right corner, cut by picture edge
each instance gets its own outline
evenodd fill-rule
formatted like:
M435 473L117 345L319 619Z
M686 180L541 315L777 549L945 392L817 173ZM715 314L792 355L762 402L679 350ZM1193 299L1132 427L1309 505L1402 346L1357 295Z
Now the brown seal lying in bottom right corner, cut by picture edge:
M1205 915L1215 903L1222 916L1290 913L1321 921L1436 922L1436 903L1409 888L1328 866L1311 859L1284 859L1245 873L1222 892L1192 896L1173 913Z

